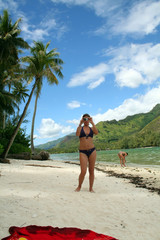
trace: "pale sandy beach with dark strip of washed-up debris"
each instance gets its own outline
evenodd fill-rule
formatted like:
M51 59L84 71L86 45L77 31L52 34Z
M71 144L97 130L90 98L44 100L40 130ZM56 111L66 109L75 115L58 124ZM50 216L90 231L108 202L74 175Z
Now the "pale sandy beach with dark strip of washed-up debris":
M0 239L11 226L90 229L119 240L160 239L160 168L96 164L95 193L79 165L10 160L0 164ZM132 183L131 183L132 182Z

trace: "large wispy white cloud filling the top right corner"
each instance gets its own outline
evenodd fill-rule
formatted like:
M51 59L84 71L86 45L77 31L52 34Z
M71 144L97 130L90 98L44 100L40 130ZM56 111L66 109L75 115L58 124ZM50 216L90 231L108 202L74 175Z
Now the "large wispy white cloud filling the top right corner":
M84 5L95 14L106 19L106 23L95 31L96 34L140 34L153 33L160 24L160 2L110 1L110 0L52 0L66 5ZM129 12L126 11L130 9ZM119 11L121 9L121 11Z

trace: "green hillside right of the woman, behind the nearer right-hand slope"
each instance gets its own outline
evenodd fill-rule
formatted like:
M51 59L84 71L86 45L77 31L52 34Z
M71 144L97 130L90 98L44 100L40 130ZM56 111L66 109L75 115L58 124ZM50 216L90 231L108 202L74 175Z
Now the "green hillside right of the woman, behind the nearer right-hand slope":
M156 105L149 113L135 114L119 121L99 122L96 125L99 134L95 136L95 145L98 149L122 148L121 144L119 145L122 139L128 141L128 137L139 133L158 116L160 116L160 104Z

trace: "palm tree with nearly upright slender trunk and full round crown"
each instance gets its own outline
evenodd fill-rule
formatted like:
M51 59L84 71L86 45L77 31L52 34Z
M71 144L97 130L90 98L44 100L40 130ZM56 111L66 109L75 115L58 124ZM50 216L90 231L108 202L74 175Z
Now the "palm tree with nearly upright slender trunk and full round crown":
M63 61L59 58L59 53L57 49L54 48L51 51L47 51L50 42L44 46L42 42L34 42L34 47L31 48L32 57L24 58L30 64L32 76L35 79L39 79L37 82L35 94L35 106L32 118L32 127L31 127L31 151L34 154L34 124L35 124L35 116L37 111L37 102L40 97L40 93L42 90L43 79L46 78L49 84L58 84L58 79L55 74L58 75L59 78L63 78L63 74L61 72Z

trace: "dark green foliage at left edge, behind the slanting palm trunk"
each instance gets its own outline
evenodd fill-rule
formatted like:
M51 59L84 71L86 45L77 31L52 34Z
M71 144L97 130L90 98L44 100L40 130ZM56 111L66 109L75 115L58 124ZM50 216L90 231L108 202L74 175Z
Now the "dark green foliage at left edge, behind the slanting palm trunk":
M21 30L18 19L14 24L7 10L0 16L0 154L5 150L13 132L15 118L21 100L26 97L20 92L24 86L23 69L19 62L20 49L28 49L29 45L20 37ZM29 151L29 141L20 129L11 151Z

